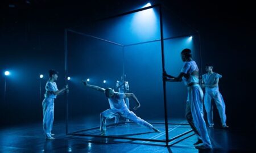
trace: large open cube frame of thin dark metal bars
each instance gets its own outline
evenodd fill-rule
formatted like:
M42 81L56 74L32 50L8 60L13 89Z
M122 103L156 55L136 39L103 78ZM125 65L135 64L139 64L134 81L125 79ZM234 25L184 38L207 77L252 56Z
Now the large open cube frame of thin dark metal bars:
M138 45L138 44L145 44L145 43L150 43L150 42L155 42L155 41L161 41L161 53L162 53L162 69L163 71L165 71L165 61L164 61L164 40L170 40L170 39L176 39L176 38L179 38L179 37L185 37L185 36L191 36L190 35L181 35L181 36L176 36L176 37L169 37L169 38L166 38L164 39L163 38L163 19L162 19L162 6L161 5L152 5L152 6L149 6L149 7L144 7L144 8L140 8L138 10L133 10L133 11L129 11L129 12L125 12L123 14L118 14L118 15L114 15L114 16L110 16L108 18L104 18L104 19L100 19L100 20L106 20L106 19L111 19L111 18L117 18L119 16L124 16L124 15L128 15L128 14L133 14L135 12L139 12L139 11L143 11L143 10L147 10L147 9L150 9L150 8L155 8L155 7L159 7L159 18L160 18L160 39L158 40L152 40L152 41L146 41L146 42L138 42L138 43L135 43L135 44L127 44L127 45L122 45L122 44L118 44L116 42L112 42L112 41L109 41L109 40L105 40L105 39L101 39L99 37L95 37L95 36L91 36L91 35L86 35L85 33L82 33L82 32L77 32L73 29L65 29L65 36L64 36L64 44L65 44L65 83L68 82L67 80L67 74L68 74L68 63L67 63L67 55L68 55L68 46L67 46L67 32L73 32L73 33L77 33L79 35L83 35L83 36L87 36L87 37L92 37L93 39L97 39L97 40L101 40L101 41L105 41L105 42L108 42L110 44L114 44L114 45L118 45L118 46L121 46L122 47L122 52L124 52L124 47L125 46L131 46L131 45ZM96 20L96 22L100 21L100 20ZM197 32L198 33L198 32ZM193 33L192 35L195 35L195 33ZM200 36L200 35L199 35ZM200 42L199 42L199 45L200 45ZM124 56L124 54L123 54ZM201 46L200 46L200 60L201 60ZM123 73L124 73L124 70L125 69L125 66L124 66L124 63L123 63ZM75 131L75 132L72 132L72 133L69 133L68 132L68 94L66 92L65 94L65 100L66 100L66 134L67 135L77 135L77 136L85 136L85 137L100 137L100 138L113 138L113 139L130 139L130 140L134 140L134 141L150 141L150 142L165 142L166 143L166 146L168 146L168 144L171 142L171 141L174 141L175 139L177 138L180 138L182 137L183 135L186 135L190 132L192 132L192 130L188 130L188 131L185 131L184 133L180 134L180 135L177 135L171 139L169 139L169 134L168 134L168 125L188 125L188 124L176 124L176 123L168 123L168 116L167 116L167 98L166 98L166 82L163 80L163 91L164 91L164 123L152 123L152 124L164 124L165 126L165 129L166 129L166 140L156 140L156 139L143 139L143 138L127 138L127 137L115 137L115 136L104 136L104 135L91 135L91 134L77 134L77 133L80 133L82 131L88 131L88 130L93 130L93 129L97 129L99 128L99 126L97 127L94 127L94 128L90 128L90 129L85 129L85 130L80 130L80 131ZM123 124L123 123L122 123ZM116 124L112 124L112 125L116 125ZM108 125L108 126L112 126L112 125ZM120 124L121 125L121 124Z

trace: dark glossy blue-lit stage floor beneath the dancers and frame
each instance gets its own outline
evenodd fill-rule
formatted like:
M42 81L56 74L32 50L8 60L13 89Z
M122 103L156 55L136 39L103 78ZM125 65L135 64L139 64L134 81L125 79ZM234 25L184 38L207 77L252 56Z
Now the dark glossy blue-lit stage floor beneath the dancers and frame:
M153 121L155 122L155 121ZM172 121L174 122L174 121ZM176 120L176 123L186 123L184 120ZM98 122L90 126L98 126ZM71 124L70 130L81 130L89 128L87 125ZM110 126L107 135L164 139L164 125L153 124L161 130L161 133L152 133L141 126L127 123L118 126ZM170 125L170 138L188 131L187 125ZM44 139L42 125L30 124L3 128L0 131L0 152L254 152L255 133L247 134L249 131L208 129L212 141L213 150L199 151L193 147L196 135L188 133L183 137L170 143L170 147L164 143L131 141L110 138L92 138L65 135L65 122L55 122L53 133L54 141ZM98 135L99 130L84 131L82 134Z

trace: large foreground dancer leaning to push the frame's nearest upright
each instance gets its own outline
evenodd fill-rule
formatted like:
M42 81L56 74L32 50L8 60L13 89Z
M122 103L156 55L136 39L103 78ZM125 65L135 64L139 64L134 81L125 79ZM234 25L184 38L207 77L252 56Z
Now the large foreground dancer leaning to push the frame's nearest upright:
M199 86L199 69L196 62L192 60L190 49L183 49L181 59L184 62L179 76L168 75L165 71L163 79L168 82L184 81L188 89L188 99L186 103L186 118L192 130L197 134L198 141L194 144L196 148L212 148L207 126L203 113L203 91Z

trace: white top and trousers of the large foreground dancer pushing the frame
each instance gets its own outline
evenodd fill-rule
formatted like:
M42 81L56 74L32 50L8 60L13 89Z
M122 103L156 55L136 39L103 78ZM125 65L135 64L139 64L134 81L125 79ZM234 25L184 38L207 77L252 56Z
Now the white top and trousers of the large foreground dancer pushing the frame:
M189 78L183 77L183 81L188 86L188 99L186 118L189 125L195 133L198 139L203 141L205 146L212 147L210 138L207 131L207 126L204 121L203 111L203 91L199 86L199 79L195 75L191 75L193 71L199 71L195 61L184 62L181 69L181 73L189 74ZM193 83L192 85L189 85Z

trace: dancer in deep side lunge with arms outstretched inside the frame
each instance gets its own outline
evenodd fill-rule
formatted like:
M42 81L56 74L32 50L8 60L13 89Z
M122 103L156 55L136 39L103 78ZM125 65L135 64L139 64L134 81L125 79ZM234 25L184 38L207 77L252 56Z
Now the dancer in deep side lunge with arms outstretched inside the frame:
M151 124L149 124L148 122L146 122L146 121L142 120L141 118L139 118L138 116L136 116L136 114L134 112L130 111L127 108L127 105L125 104L125 100L124 100L127 97L131 97L134 99L134 101L136 103L134 110L141 107L141 104L139 103L137 97L134 94L132 94L132 93L123 94L123 93L115 92L112 88L105 89L105 88L101 88L98 86L92 86L84 80L82 80L82 83L84 83L84 85L86 87L93 88L94 90L98 90L98 91L101 91L102 93L105 93L106 97L109 100L110 109L107 109L106 111L104 111L100 114L101 135L105 135L105 133L106 133L106 120L113 118L115 116L125 117L125 118L137 123L138 125L142 125L148 129L152 129L156 132L160 132L158 129L154 128Z

